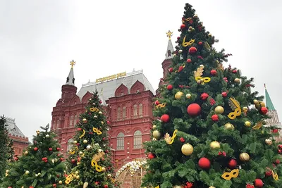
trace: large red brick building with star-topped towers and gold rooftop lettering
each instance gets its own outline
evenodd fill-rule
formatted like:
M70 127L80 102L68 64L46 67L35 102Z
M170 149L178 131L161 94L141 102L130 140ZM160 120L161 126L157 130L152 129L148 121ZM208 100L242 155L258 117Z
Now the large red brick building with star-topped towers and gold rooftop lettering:
M171 33L168 34L168 49L162 63L164 75L171 65L173 45ZM73 73L74 61L71 62L71 71L66 84L61 89L61 99L51 113L51 130L59 135L62 151L68 151L73 143L75 123L80 113L85 111L85 105L92 93L97 90L102 104L111 121L111 147L115 167L119 168L135 158L145 158L142 143L150 139L150 130L153 122L153 97L155 90L142 70L132 73L118 73L97 79L96 82L82 84L79 92L75 87ZM162 82L160 82L162 84Z

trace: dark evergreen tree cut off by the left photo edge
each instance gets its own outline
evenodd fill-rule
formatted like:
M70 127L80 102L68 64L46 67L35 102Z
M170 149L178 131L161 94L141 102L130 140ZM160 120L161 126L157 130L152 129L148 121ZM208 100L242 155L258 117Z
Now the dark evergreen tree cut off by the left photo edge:
M0 182L2 177L5 175L5 169L8 165L9 151L13 149L10 145L11 140L8 137L8 130L6 126L6 120L3 115L0 118Z

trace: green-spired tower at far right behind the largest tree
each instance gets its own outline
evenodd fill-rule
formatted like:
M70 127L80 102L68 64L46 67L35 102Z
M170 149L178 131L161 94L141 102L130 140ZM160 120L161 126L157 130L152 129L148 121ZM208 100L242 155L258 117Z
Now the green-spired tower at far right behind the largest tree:
M266 107L269 109L268 115L271 116L271 118L267 120L267 125L269 125L269 126L275 125L275 126L282 128L281 123L279 122L279 119L278 119L278 113L277 113L276 109L274 108L274 104L272 103L272 101L270 99L269 92L267 92L265 84L264 84L264 88L265 88ZM278 132L279 132L279 137L276 138L276 139L280 141L282 139L281 130L279 130Z

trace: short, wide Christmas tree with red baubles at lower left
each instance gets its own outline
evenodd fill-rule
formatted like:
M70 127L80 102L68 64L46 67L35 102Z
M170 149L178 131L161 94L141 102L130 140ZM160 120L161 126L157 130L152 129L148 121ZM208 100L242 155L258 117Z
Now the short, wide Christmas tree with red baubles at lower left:
M33 144L23 151L23 156L11 163L0 187L63 187L64 165L56 134L49 132L49 125L37 130Z

